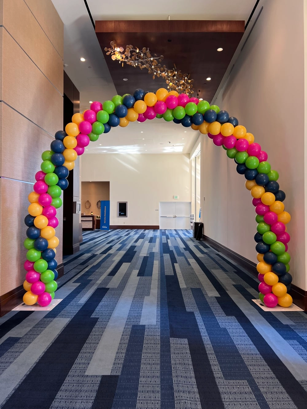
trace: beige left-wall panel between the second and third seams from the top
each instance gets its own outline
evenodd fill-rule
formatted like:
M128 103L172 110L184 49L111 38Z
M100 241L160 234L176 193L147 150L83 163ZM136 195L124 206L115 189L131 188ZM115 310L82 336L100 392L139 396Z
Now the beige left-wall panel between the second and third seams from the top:
M3 101L52 135L63 128L62 95L5 30L2 76Z

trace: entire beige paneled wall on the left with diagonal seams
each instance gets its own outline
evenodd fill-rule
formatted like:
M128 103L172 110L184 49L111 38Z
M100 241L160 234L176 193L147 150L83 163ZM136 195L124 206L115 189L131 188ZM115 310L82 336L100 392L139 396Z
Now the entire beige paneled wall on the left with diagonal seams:
M63 22L51 0L0 0L0 302L25 280L24 218L41 153L63 129ZM62 209L56 235L62 240ZM61 243L62 244L62 243ZM62 245L56 259L62 263ZM20 302L20 301L19 301ZM3 313L3 312L1 312Z

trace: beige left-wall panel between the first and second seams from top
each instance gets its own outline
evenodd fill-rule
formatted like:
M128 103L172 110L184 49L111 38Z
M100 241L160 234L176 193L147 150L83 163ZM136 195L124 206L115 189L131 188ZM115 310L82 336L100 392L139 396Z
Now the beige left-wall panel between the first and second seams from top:
M23 0L5 0L3 26L63 94L63 59Z

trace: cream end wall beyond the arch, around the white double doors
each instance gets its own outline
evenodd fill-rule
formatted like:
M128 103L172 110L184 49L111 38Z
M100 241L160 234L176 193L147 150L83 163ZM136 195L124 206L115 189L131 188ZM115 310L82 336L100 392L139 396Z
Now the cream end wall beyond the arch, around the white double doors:
M191 201L190 155L86 154L81 180L110 182L110 225L159 225L159 202ZM119 201L127 218L116 217Z

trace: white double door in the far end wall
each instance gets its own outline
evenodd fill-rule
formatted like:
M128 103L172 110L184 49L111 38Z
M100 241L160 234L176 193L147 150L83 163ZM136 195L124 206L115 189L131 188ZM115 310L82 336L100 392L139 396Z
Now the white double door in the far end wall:
M160 229L191 229L190 202L160 202Z

